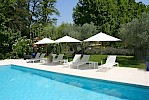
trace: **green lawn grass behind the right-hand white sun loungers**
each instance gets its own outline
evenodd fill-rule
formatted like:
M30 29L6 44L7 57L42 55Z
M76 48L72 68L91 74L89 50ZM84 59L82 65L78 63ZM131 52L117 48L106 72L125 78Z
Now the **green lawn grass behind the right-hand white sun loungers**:
M103 64L107 59L107 55L102 55ZM100 62L100 55L91 55L90 61ZM145 61L138 61L134 59L134 56L117 56L116 62L119 63L120 67L132 67L145 69Z

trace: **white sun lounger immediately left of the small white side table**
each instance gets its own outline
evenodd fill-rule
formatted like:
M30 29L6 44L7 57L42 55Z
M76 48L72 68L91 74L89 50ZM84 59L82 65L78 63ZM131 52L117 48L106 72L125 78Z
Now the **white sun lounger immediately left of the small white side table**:
M88 63L89 62L89 58L90 58L90 55L83 55L82 59L80 61L78 61L78 62L72 63L71 67L77 66L77 68L79 68L79 66Z

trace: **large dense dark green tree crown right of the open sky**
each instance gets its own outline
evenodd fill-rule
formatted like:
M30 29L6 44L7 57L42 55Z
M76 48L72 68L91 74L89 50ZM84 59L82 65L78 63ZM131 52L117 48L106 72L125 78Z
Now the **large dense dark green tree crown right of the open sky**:
M121 24L140 18L147 7L135 0L79 0L73 11L77 25L93 22L98 30L117 36Z

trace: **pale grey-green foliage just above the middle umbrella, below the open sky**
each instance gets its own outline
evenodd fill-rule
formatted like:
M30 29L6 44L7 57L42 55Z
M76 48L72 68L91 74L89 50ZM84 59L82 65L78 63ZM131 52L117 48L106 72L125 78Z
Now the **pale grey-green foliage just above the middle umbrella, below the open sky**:
M57 29L62 36L69 35L79 40L89 38L98 32L97 27L93 23L85 23L82 26L63 23Z

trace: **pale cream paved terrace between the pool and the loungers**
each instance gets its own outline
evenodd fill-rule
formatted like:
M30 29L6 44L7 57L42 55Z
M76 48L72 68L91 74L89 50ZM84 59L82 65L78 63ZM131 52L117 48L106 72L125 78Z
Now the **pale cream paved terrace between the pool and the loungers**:
M8 64L15 64L76 76L149 86L149 71L147 72L137 68L114 67L108 71L101 70L97 72L97 69L89 69L88 65L80 66L80 69L70 69L58 64L26 63L23 59L8 59L0 61L0 65Z

